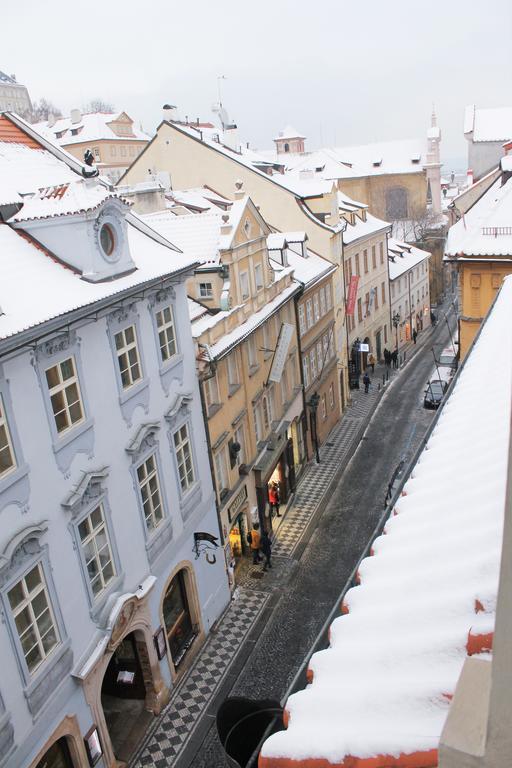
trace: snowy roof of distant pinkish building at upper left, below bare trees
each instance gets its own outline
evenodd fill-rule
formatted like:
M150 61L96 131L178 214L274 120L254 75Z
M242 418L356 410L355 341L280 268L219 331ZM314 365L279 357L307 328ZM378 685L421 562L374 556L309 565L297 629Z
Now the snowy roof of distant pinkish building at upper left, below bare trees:
M112 139L115 141L150 141L149 136L144 131L131 125L131 136L117 134L112 130L110 123L119 119L124 112L95 112L80 115L80 120L73 123L71 117L61 117L51 127L47 121L36 123L34 128L59 144L68 146L70 144L82 144L83 142L93 142L100 139ZM72 131L77 133L73 135Z

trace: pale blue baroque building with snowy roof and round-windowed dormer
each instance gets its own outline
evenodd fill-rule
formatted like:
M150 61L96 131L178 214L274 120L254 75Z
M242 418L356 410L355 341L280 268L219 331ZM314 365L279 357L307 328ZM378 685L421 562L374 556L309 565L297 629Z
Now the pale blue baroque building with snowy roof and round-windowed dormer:
M219 537L195 262L93 169L5 121L0 766L111 768L229 600L223 558L194 536Z

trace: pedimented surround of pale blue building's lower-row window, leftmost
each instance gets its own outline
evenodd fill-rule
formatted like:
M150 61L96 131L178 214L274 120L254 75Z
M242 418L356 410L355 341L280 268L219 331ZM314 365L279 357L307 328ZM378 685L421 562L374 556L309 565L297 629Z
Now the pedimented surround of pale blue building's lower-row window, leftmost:
M48 545L40 539L48 531L46 521L19 530L0 553L0 607L7 625L14 655L23 681L24 694L30 712L36 717L53 696L59 684L68 676L73 664L71 641L67 637L57 592L52 578ZM7 593L28 571L39 563L43 570L60 643L42 664L30 674L14 623Z

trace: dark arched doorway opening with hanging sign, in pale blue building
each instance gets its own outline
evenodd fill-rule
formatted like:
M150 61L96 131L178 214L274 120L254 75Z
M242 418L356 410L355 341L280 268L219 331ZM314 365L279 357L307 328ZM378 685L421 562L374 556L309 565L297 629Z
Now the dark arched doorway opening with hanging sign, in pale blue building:
M153 678L145 639L135 631L117 645L103 676L101 705L117 760L128 762L153 717Z

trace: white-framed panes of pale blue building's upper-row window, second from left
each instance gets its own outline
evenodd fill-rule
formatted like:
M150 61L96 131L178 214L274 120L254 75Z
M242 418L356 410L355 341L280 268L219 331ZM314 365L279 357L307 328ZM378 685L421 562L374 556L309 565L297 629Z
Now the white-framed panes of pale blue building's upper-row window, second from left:
M84 420L74 357L52 365L45 373L57 432L65 432Z

